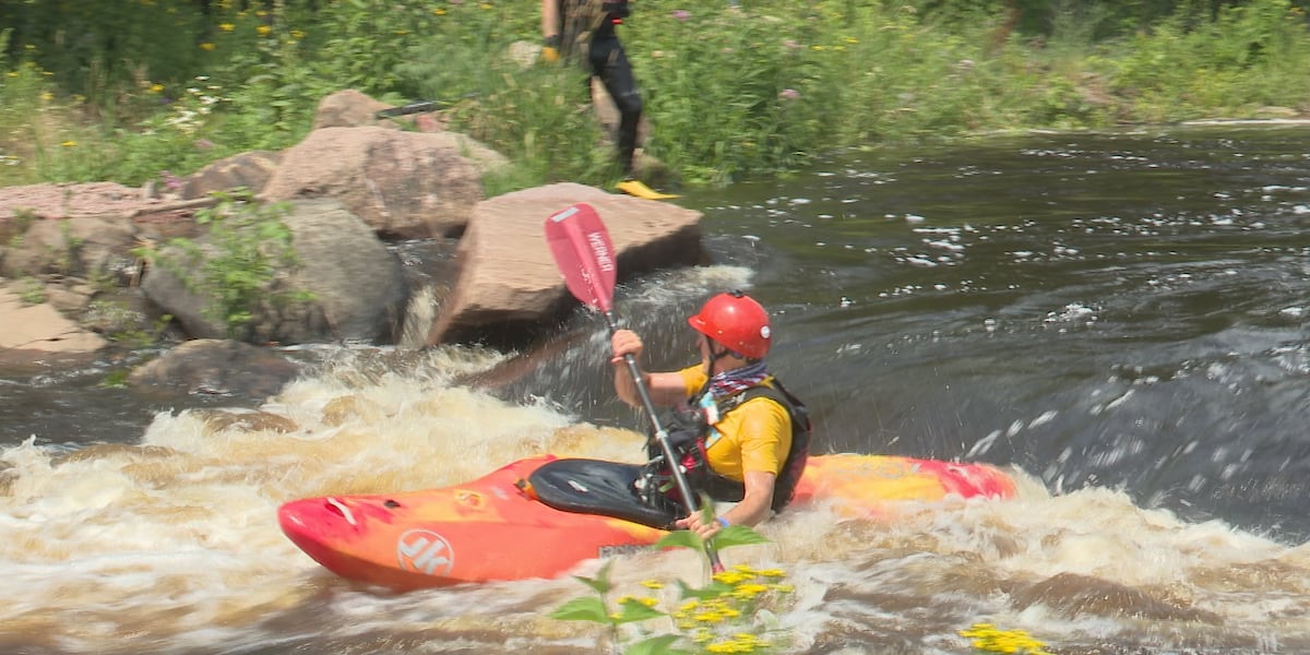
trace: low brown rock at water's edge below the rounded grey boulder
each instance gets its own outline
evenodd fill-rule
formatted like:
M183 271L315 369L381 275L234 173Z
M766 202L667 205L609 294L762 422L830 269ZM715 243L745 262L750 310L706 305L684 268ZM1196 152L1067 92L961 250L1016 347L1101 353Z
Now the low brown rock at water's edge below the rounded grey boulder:
M297 375L300 367L270 350L234 341L194 339L138 367L128 373L127 384L262 400Z

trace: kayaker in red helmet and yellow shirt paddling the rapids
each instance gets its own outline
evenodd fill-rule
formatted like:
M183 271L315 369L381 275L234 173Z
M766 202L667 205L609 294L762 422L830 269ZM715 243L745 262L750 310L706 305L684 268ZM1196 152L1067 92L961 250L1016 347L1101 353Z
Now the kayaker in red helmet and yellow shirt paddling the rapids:
M740 291L719 293L686 322L700 333L701 362L642 377L651 402L679 407L660 424L671 434L669 441L679 444L693 493L736 502L713 521L697 514L676 521L710 538L727 525L756 525L786 506L804 470L810 421L804 405L782 388L764 360L773 334L760 303ZM630 354L639 360L642 339L631 330L616 330L610 347L614 390L624 402L639 406L624 358Z

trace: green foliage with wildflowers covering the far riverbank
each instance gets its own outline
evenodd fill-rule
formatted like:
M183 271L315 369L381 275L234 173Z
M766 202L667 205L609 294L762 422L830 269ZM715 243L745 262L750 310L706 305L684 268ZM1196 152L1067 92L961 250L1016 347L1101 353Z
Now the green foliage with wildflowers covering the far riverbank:
M1310 114L1306 3L739 4L642 0L620 28L646 151L684 183L996 130ZM538 41L528 0L0 0L0 185L284 148L348 88L451 101L451 128L515 162L489 193L607 185L584 72L510 56Z

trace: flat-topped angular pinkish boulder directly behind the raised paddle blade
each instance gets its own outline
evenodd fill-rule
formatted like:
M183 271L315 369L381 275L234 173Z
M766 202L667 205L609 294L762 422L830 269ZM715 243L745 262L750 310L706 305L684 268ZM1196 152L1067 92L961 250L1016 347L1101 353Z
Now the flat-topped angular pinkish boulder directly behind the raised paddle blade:
M605 221L625 279L703 258L701 212L676 204L576 183L491 198L473 208L456 254L457 279L428 331L428 345L521 345L554 328L576 300L550 254L545 221L580 202L595 207Z

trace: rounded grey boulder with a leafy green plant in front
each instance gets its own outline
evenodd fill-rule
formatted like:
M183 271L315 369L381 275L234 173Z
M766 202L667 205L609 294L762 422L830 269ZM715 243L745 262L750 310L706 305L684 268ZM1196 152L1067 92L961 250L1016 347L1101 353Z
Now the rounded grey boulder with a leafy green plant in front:
M394 341L407 290L400 261L377 236L337 200L296 200L283 223L291 229L299 266L284 271L271 292L307 291L312 300L267 303L240 337L252 342L305 343L320 341ZM199 238L202 250L215 246ZM182 262L165 249L164 258ZM176 317L193 338L224 338L227 328L206 313L210 300L198 292L200 275L190 286L170 269L152 267L141 283L145 295Z

